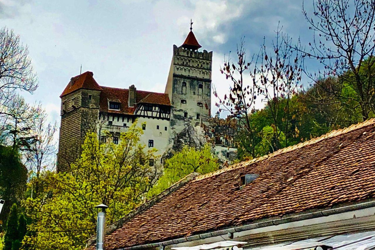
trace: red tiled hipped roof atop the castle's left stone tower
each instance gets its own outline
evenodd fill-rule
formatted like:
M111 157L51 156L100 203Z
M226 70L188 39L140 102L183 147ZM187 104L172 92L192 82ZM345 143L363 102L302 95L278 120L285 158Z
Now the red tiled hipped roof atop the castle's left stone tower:
M73 77L65 87L64 91L62 91L60 97L72 93L80 88L102 90L101 86L99 86L99 84L93 78L93 75L94 74L92 72L86 71L81 75Z

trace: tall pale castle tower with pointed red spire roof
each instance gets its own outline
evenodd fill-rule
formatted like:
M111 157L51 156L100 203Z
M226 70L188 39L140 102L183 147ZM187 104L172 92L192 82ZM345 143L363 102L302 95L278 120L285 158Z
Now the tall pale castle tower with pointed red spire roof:
M192 28L185 42L173 45L165 93L171 100L169 143L188 125L208 125L211 109L212 51L198 51L202 46Z

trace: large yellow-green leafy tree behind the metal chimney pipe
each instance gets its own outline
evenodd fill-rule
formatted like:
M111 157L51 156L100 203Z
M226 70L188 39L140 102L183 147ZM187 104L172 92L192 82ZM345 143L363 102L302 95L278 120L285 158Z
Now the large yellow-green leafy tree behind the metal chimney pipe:
M70 172L42 172L40 191L23 207L32 223L24 243L34 249L80 250L95 233L95 206L108 206L106 221L115 222L143 202L156 181L158 167L151 167L155 149L140 144L142 128L132 125L120 134L119 144L100 143L87 133L80 159ZM30 186L34 179L31 180Z

